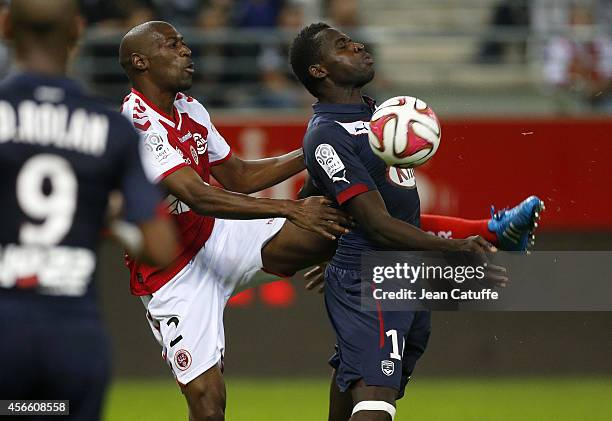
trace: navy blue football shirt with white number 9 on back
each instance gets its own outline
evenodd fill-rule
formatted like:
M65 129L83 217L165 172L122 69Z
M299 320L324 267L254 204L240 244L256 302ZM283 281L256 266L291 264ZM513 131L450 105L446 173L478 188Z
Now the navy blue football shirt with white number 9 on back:
M139 148L129 121L70 79L22 73L0 84L0 294L93 308L109 193L123 192L132 223L154 217L160 200Z

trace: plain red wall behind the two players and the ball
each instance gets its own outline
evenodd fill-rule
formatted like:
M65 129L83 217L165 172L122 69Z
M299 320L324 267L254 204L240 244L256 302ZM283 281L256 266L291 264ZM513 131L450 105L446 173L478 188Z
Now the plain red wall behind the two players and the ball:
M243 157L277 155L301 145L303 120L218 119ZM535 193L546 201L542 230L612 229L612 119L445 120L442 144L417 170L423 211L488 216ZM268 192L294 196L301 178Z

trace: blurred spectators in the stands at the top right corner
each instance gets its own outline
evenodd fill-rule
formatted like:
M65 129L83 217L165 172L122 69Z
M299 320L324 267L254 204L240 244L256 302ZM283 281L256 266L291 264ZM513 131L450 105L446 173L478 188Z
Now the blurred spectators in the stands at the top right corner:
M559 113L612 113L612 0L501 0L490 24L489 35L514 28L517 36L487 38L480 62L524 60L529 41Z

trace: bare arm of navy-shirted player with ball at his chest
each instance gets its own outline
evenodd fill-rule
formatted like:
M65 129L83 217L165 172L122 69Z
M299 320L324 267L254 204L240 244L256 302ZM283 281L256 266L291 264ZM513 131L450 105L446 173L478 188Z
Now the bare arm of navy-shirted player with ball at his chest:
M392 217L378 191L359 194L347 202L349 214L355 218L373 242L395 250L497 251L479 236L461 240L436 237L404 221Z

